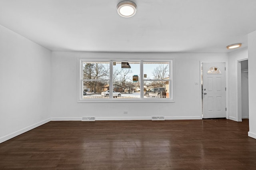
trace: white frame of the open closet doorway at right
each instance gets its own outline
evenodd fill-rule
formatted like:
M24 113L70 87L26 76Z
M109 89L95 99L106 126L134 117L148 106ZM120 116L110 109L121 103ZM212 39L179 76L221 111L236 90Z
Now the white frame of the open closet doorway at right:
M237 61L237 97L236 97L236 103L237 103L237 112L236 112L236 121L242 122L242 81L241 81L241 61L248 60L246 59L240 59Z

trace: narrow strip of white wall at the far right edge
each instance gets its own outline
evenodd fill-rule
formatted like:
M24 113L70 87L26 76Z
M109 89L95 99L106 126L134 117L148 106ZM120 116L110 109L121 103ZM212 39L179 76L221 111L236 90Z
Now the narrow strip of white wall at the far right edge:
M256 138L256 31L248 34L249 132Z

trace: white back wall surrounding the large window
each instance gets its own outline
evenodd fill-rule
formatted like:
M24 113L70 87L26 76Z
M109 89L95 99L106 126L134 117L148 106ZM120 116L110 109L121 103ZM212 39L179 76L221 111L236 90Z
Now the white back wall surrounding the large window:
M81 59L174 59L175 103L78 103L78 58ZM53 120L202 119L200 61L227 62L219 53L82 53L52 52L52 117ZM228 73L226 74L228 76ZM195 85L195 83L199 85ZM228 96L227 96L228 97ZM128 111L124 115L123 112Z

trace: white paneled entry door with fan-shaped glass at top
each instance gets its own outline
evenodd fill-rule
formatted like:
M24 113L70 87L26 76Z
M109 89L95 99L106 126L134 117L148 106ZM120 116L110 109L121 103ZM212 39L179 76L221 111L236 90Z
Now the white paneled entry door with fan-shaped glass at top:
M226 117L225 63L203 63L203 118Z

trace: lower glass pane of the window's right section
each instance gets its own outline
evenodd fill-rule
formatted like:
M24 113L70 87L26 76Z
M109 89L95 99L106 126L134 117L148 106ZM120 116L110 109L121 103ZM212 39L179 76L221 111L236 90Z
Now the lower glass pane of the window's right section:
M170 81L149 81L144 80L144 98L170 98Z

